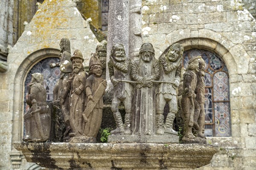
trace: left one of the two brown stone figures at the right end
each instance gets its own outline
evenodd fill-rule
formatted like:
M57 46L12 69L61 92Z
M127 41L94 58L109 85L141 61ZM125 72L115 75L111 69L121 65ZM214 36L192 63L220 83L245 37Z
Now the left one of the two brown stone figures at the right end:
M184 122L184 142L195 141L195 136L192 134L192 127L194 126L194 112L195 112L195 90L197 85L197 73L199 71L198 58L194 57L189 60L188 68L184 74L183 94L181 99L182 114L185 118Z

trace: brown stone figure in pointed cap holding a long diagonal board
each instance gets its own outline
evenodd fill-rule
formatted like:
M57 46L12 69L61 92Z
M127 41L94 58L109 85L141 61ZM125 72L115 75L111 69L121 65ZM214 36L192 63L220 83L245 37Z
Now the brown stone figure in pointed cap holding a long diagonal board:
M98 57L91 57L89 69L90 75L85 83L87 99L85 102L86 109L83 113L84 135L86 135L87 142L96 142L96 136L102 122L103 94L105 94L107 81L101 77L102 66Z

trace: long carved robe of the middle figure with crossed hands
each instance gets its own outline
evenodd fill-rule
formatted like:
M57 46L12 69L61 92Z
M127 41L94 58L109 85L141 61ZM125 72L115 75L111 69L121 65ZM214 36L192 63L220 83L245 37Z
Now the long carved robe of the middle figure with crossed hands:
M150 62L136 59L131 63L131 78L140 82L143 78L158 80L160 77L160 64L153 57ZM136 135L154 135L155 128L155 85L153 87L135 88L133 106L132 133Z

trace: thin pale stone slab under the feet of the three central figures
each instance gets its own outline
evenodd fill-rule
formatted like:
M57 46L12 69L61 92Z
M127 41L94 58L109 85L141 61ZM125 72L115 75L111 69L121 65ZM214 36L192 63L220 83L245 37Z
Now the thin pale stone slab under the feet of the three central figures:
M179 136L174 134L158 136L110 135L108 136L108 143L176 144L179 143Z

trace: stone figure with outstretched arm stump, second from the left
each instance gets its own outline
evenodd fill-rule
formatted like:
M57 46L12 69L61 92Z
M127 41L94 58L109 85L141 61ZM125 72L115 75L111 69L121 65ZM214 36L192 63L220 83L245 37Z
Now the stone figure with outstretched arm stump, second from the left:
M69 120L69 98L72 80L69 80L69 74L72 73L72 62L70 60L70 40L66 37L61 38L60 42L60 62L50 64L50 68L60 67L61 77L54 86L53 98L58 101L61 107L61 113L64 117L66 131L64 133L64 141L69 140L69 133L72 132ZM72 74L71 74L72 75Z

